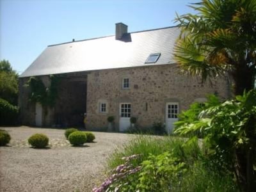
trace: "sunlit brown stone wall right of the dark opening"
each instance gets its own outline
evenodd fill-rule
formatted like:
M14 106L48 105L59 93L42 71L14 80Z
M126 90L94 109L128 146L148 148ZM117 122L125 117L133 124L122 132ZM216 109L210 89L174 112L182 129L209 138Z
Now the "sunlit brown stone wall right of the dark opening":
M122 88L124 78L129 78L129 89ZM226 77L202 84L198 77L180 74L177 65L98 70L90 72L87 81L89 129L104 129L108 127L108 116L115 116L118 131L121 102L131 103L131 116L138 118L139 126L148 127L154 122L164 123L166 102L179 102L181 111L210 93L221 99L230 97ZM106 113L100 113L100 102L106 103Z

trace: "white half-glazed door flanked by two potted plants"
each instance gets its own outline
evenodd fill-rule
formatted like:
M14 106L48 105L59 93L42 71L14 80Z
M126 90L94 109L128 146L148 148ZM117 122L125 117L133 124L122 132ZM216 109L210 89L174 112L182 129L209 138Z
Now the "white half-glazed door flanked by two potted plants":
M119 118L119 131L124 132L131 126L131 104L121 103L120 104L120 118Z

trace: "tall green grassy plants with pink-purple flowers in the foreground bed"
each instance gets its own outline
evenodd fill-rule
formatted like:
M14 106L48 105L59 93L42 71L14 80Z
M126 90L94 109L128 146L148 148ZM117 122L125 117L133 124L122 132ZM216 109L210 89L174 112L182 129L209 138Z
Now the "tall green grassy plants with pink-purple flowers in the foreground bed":
M238 191L208 153L196 137L139 135L109 156L109 177L93 191Z

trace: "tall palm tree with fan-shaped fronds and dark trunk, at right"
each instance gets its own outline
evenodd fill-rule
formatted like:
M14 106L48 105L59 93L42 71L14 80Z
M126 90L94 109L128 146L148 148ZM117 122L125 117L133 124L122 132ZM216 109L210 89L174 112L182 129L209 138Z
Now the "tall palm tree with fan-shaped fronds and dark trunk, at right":
M243 95L255 87L256 73L256 1L201 0L190 6L197 13L178 16L181 34L175 47L175 60L181 70L207 77L228 73L234 82L234 95ZM236 151L238 182L244 191L252 191L256 146L256 117L244 131L248 148Z

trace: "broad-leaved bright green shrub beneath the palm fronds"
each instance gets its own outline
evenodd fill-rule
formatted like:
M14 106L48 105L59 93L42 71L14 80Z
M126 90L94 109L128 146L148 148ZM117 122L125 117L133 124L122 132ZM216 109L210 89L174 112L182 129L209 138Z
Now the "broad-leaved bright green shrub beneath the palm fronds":
M234 100L223 103L212 95L205 106L192 104L188 111L182 112L175 132L179 134L198 134L201 132L209 147L209 153L220 167L234 172L243 190L243 183L256 183L256 127L252 120L256 117L256 90L237 96ZM246 131L250 129L250 132ZM250 152L252 156L252 175L241 180L244 170L237 169L241 165L237 152ZM246 153L245 153L246 154ZM242 177L242 178L241 178ZM252 188L247 187L247 191Z

